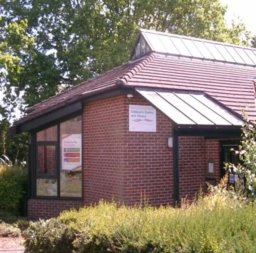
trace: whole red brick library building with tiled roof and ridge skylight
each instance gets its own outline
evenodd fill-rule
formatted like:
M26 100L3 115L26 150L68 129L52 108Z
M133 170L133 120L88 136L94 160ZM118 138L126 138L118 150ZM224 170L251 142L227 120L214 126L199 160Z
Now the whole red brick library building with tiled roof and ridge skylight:
M174 205L216 184L256 119L256 49L140 30L126 64L27 110L27 214L101 199Z

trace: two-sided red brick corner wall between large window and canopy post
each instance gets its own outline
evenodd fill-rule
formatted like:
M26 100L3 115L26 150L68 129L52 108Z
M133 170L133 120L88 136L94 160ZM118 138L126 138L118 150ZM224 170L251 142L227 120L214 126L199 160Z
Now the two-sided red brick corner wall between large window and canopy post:
M129 132L129 104L148 105L122 96L84 106L84 201L172 204L171 122L157 113L156 133Z

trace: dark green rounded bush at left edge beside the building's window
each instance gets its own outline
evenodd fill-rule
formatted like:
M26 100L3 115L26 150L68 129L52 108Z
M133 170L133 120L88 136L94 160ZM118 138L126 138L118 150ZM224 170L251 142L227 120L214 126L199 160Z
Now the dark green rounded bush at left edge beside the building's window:
M22 200L27 192L27 169L0 164L0 210L21 212Z

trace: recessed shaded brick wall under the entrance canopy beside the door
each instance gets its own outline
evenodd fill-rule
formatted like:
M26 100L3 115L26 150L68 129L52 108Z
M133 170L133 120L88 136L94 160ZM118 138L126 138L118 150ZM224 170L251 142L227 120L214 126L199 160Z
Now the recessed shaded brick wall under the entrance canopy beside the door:
M200 189L206 191L206 178L220 181L220 142L203 137L179 137L180 198L192 199ZM214 161L214 174L208 162Z

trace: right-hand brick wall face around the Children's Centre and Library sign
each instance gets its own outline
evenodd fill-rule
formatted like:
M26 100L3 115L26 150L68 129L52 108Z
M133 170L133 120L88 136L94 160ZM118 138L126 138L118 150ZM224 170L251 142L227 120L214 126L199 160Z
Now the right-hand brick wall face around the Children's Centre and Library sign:
M136 204L141 197L151 205L173 204L172 123L157 112L157 132L129 132L129 105L149 105L141 98L125 100L124 202Z

